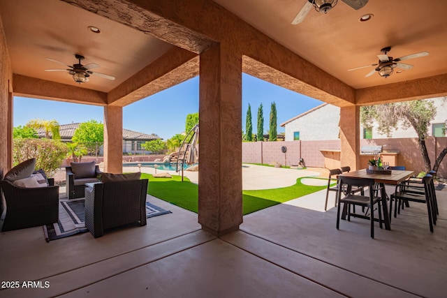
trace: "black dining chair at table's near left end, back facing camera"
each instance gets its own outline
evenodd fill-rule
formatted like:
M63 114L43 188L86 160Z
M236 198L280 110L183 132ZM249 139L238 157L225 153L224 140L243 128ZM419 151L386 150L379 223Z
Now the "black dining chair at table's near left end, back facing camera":
M337 230L340 225L340 208L341 205L346 205L348 211L348 221L351 221L351 216L358 218L369 219L371 223L371 238L374 238L374 205L377 204L377 210L379 211L379 226L382 228L382 211L381 211L381 197L374 195L374 179L367 178L351 178L351 177L339 177L339 191L337 193ZM346 187L346 193L342 191ZM368 195L356 195L351 192L353 187L368 187ZM344 197L342 198L342 194ZM370 209L369 216L363 214L351 214L350 205L367 207ZM345 206L344 206L345 207Z

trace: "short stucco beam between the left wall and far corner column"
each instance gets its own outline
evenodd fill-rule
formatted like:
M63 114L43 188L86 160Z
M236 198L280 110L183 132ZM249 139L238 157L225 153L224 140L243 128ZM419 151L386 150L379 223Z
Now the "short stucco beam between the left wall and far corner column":
M107 103L107 94L66 84L36 79L24 75L13 75L14 96L64 101L66 103L84 103L101 105Z

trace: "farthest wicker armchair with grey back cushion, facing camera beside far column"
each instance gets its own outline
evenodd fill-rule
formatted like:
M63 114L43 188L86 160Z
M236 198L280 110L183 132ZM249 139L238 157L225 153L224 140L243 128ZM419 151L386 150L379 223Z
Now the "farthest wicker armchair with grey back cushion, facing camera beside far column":
M89 163L71 163L66 167L66 195L69 199L84 198L86 183L99 182L101 171L94 161Z

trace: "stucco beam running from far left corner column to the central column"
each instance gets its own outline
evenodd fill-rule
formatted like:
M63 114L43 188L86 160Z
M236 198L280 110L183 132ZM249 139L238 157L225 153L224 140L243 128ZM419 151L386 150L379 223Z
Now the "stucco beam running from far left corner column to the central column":
M108 94L109 105L124 107L198 75L197 54L179 47L163 54Z

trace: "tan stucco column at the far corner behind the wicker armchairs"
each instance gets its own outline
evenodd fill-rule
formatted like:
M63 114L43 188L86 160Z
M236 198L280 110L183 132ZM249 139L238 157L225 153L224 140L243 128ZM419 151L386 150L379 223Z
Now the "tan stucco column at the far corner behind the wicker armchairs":
M123 108L104 107L104 172L123 171Z

